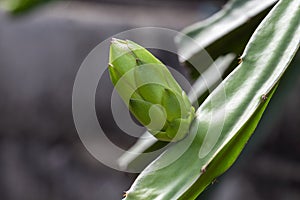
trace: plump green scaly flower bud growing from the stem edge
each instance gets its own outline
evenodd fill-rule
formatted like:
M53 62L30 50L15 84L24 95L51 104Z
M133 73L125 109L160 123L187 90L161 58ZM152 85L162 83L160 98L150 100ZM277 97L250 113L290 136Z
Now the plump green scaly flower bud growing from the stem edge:
M184 138L195 109L168 68L140 45L113 39L109 73L119 95L158 140Z

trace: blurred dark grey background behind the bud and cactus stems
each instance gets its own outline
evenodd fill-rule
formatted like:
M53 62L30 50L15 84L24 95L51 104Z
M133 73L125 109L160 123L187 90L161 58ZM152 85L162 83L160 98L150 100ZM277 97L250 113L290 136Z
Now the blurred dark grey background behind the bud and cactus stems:
M55 1L19 16L0 11L0 199L121 199L134 174L95 160L72 118L72 87L87 54L101 41L135 27L181 30L218 11L225 0ZM299 54L299 53L298 53ZM183 70L175 55L159 53ZM300 73L283 80L234 167L200 199L300 199ZM112 85L97 94L111 139L129 148L109 111ZM107 97L106 94L109 94Z

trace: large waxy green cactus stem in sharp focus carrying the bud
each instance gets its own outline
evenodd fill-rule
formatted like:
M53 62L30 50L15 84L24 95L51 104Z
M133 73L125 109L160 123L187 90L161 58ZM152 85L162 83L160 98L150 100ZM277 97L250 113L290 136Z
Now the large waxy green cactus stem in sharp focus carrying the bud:
M251 37L241 57L242 63L197 110L188 137L152 162L124 199L195 199L233 164L299 48L299 20L300 1L283 0L276 4ZM224 92L225 100L219 98ZM218 117L224 110L224 118ZM217 142L207 142L213 141L206 140L209 127L220 124ZM159 169L180 152L184 143L189 144L189 140L192 144L181 157ZM205 149L208 153L201 154Z

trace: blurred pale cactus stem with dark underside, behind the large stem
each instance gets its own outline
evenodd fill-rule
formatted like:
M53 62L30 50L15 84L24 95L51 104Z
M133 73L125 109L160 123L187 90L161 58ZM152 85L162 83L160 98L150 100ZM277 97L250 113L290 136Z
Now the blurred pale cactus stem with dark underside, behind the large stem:
M179 59L189 67L191 77L196 79L199 72L203 73L209 67L209 63L203 62L206 52L213 59L228 53L241 55L252 33L275 2L277 0L229 0L211 17L183 29L182 33L193 40L179 34L175 41L178 53L182 55ZM226 76L236 66L237 62L232 63Z

